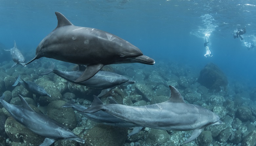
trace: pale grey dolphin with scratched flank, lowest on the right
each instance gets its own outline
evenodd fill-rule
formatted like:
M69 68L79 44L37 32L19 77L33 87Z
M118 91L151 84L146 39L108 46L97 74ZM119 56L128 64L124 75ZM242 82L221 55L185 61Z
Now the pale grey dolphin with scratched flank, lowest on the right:
M220 117L199 105L185 103L180 92L173 86L169 100L146 106L128 106L121 104L91 105L82 112L93 113L103 110L126 122L139 126L162 129L188 131L194 130L184 143L196 139L203 128L209 125L222 124Z

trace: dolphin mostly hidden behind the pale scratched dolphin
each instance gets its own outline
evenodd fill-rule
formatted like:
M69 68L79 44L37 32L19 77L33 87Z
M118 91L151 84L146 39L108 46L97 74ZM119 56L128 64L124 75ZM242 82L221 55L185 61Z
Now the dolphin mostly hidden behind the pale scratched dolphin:
M110 100L109 101L110 103L118 104L116 100L113 100L111 98L109 98L109 100ZM94 100L93 100L92 105L101 105L101 104L103 104L102 101L97 96L94 95ZM134 127L133 131L128 135L128 137L139 133L139 131L143 128L142 126L138 126L136 124L129 123L124 120L118 119L106 112L101 111L101 110L97 111L95 113L80 112L80 111L86 110L87 107L85 107L83 105L75 104L74 101L72 101L72 100L69 101L68 103L64 104L62 107L66 107L66 108L72 107L73 110L78 111L81 115L85 116L86 118L88 118L92 121L98 122L98 123L111 125L111 126L118 126L118 127L128 127L128 128Z

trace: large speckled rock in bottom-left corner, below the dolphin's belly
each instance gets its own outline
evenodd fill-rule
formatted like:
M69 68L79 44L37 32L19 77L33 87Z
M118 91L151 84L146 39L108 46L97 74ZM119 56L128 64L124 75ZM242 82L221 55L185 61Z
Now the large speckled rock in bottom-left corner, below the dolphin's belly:
M45 138L33 133L12 117L7 118L5 122L5 131L12 141L20 142L24 145L38 146L43 143Z

